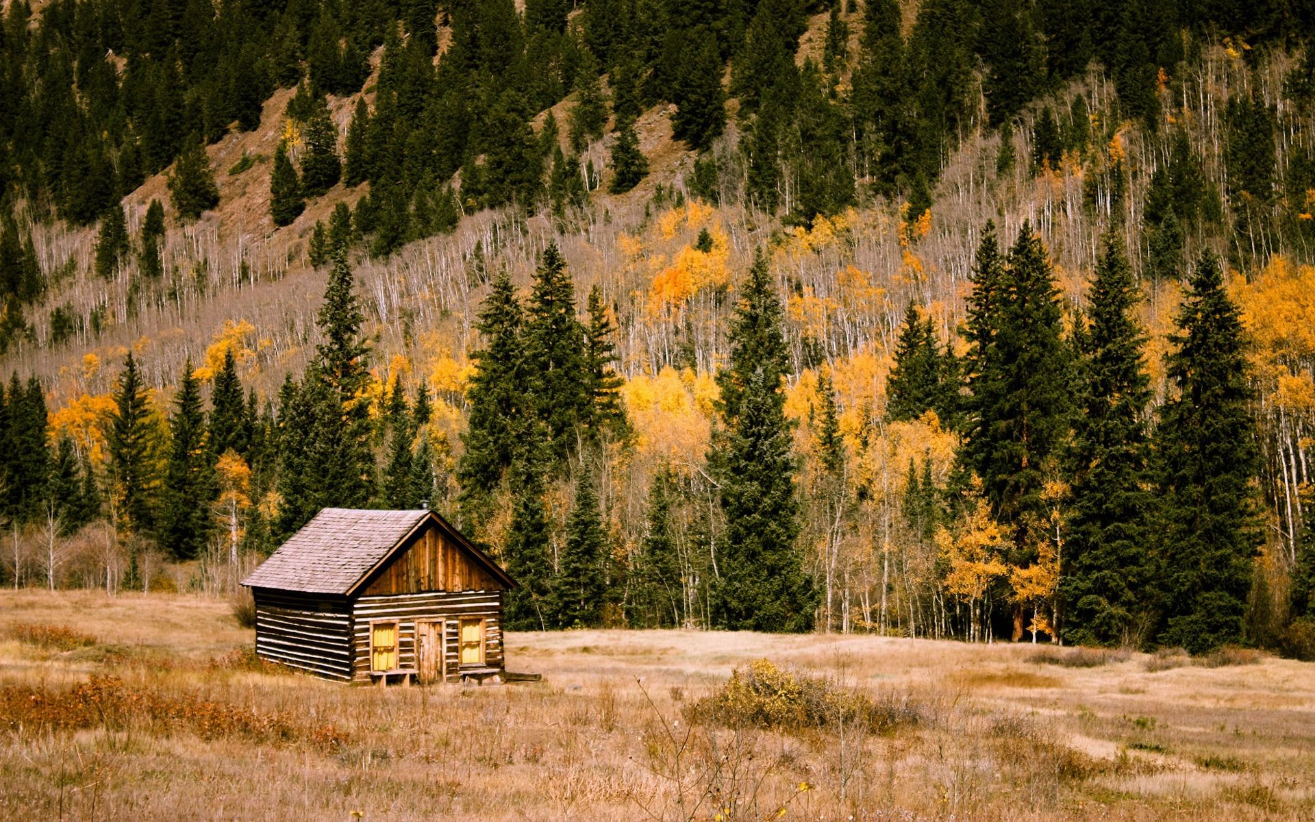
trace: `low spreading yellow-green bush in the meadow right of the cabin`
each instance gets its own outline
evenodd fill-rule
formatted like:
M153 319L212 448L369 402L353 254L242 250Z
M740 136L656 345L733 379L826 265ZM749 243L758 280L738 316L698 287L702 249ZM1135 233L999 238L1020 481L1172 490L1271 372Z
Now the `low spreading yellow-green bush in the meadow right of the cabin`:
M756 726L782 731L861 723L886 734L920 719L907 697L873 701L819 676L777 668L765 659L736 668L721 690L692 706L700 718L729 727Z

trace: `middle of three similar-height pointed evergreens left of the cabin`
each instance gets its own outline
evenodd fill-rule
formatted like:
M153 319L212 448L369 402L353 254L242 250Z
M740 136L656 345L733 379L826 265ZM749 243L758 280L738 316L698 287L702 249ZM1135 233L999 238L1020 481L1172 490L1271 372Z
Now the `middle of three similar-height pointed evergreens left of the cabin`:
M174 559L195 559L205 550L214 530L210 504L218 497L218 485L214 480L214 451L201 410L201 387L192 375L191 359L183 366L183 380L174 395L168 429L159 544Z

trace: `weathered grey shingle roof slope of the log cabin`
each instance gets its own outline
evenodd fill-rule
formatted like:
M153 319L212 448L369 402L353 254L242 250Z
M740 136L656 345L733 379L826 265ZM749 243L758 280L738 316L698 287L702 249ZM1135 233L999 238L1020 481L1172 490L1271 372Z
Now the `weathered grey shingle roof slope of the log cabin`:
M430 513L325 508L242 584L345 594Z

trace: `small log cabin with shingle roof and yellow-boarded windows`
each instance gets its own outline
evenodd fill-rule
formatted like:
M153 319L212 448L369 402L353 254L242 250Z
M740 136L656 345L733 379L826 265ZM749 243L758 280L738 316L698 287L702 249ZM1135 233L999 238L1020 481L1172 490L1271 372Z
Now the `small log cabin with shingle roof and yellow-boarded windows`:
M326 508L242 584L262 659L354 684L504 671L515 583L429 509Z

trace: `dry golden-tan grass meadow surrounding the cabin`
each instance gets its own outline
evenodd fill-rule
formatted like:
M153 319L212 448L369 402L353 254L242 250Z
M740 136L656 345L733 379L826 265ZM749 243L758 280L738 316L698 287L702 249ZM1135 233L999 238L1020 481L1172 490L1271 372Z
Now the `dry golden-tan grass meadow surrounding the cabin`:
M509 635L542 683L379 689L251 639L218 600L0 592L0 817L1315 819L1315 665L1245 652L572 631ZM757 659L828 681L721 690Z

